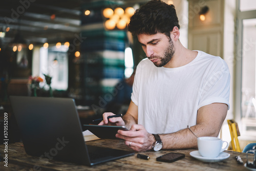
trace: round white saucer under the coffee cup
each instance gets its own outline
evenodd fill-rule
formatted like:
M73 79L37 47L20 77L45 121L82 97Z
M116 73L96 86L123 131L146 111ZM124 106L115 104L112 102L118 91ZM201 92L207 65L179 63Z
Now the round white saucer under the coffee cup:
M227 159L230 156L230 154L225 153L225 152L221 152L219 154L219 156L215 157L215 158L203 157L200 155L199 151L190 152L189 154L190 154L190 156L192 156L200 161L204 161L204 162L219 162L219 161Z

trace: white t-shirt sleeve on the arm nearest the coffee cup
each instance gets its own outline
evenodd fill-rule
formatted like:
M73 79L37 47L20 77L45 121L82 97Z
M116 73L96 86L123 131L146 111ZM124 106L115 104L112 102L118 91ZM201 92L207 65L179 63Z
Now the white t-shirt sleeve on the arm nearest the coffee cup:
M203 84L198 109L211 103L225 103L229 109L230 73L228 66L221 59L212 68L213 71Z

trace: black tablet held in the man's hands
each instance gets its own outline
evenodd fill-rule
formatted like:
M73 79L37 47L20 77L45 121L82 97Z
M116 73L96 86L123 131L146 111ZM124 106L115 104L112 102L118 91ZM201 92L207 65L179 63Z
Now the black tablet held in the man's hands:
M128 131L125 126L109 126L109 125L86 125L84 129L89 130L91 133L102 139L119 139L116 138L118 130Z

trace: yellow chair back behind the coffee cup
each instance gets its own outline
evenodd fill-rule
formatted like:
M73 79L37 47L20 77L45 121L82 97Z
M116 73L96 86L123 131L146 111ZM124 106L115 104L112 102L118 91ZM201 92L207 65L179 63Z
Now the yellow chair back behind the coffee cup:
M238 129L238 124L234 120L227 120L230 136L231 136L231 146L234 152L241 152L240 144L238 141L238 136L240 132ZM236 143L236 144L235 144Z

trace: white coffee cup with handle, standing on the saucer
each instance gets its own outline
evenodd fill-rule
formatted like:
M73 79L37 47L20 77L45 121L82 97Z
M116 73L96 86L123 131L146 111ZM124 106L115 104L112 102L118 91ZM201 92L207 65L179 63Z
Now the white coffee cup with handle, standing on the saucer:
M226 146L223 148L224 142L226 142ZM197 144L200 155L208 158L218 157L228 147L228 142L222 141L218 137L199 137Z

